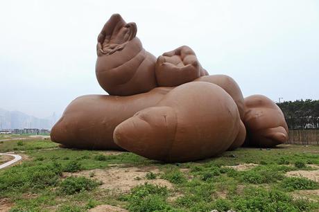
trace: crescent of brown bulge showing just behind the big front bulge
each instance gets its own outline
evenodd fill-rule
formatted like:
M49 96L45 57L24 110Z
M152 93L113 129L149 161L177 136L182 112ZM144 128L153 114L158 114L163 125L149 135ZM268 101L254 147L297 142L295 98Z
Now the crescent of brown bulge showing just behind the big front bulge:
M243 120L244 111L245 111L243 94L241 93L241 89L239 88L239 85L236 83L236 81L233 78L223 74L216 74L211 76L202 76L194 81L195 82L196 81L211 82L220 86L222 89L224 89L228 94L230 94L230 96L232 96L232 99L235 101L238 107L241 120Z

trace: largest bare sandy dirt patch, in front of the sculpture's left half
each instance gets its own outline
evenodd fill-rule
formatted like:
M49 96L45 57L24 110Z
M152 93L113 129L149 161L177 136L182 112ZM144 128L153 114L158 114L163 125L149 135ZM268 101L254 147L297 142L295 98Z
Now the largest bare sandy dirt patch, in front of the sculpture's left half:
M156 184L158 186L166 186L173 188L173 185L165 179L146 179L146 173L153 172L159 174L160 170L155 167L125 167L125 168L109 168L106 170L84 170L79 173L64 173L64 176L84 176L90 177L94 173L93 179L102 181L101 188L105 188L114 193L127 193L131 188L145 184Z

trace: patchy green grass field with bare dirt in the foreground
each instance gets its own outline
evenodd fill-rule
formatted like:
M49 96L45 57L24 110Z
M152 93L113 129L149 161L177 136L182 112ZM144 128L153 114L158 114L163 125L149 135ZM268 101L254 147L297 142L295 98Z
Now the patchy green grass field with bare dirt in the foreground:
M319 211L315 145L240 148L184 164L0 140L0 152L11 151L24 159L0 170L0 211Z

